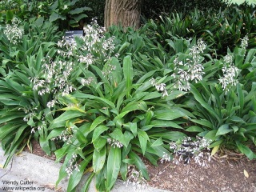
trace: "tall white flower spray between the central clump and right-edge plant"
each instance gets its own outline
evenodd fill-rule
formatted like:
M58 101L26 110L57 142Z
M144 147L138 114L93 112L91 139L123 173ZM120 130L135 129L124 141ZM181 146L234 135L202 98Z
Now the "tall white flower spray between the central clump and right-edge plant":
M179 90L190 90L190 81L201 81L204 67L202 66L201 54L206 49L206 43L202 41L202 38L198 39L197 45L190 48L190 57L186 62L178 61L178 58L174 59L174 78L177 78L175 86Z

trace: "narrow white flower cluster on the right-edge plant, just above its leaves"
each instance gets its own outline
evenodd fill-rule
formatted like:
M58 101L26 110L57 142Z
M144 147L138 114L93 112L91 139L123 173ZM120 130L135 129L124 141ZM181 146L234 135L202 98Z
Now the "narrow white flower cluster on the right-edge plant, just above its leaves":
M238 84L238 68L233 64L233 57L227 54L224 57L224 66L222 67L223 77L219 78L218 81L222 84L222 89L227 93L232 86Z

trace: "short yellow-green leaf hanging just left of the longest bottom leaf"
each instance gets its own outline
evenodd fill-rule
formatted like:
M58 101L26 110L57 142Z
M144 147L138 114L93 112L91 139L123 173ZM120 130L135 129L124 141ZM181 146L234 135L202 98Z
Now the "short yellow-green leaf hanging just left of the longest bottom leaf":
M102 150L94 150L93 155L93 169L94 173L98 173L98 171L102 170L102 167L105 164L106 160L106 147L103 147Z

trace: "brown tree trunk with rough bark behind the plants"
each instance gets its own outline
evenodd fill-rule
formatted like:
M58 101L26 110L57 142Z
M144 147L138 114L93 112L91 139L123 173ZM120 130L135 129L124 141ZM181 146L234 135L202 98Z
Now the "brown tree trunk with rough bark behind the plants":
M142 0L106 0L104 26L115 25L138 29Z

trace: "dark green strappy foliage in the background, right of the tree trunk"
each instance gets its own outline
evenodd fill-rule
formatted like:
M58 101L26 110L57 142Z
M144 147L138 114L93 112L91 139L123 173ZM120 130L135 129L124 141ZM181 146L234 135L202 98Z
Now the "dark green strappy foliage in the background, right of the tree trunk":
M242 6L240 6L242 7ZM256 46L256 19L253 6L230 6L225 10L201 11L194 9L189 14L162 15L156 21L146 23L150 38L170 49L166 42L174 38L202 38L214 50L212 56L225 55L226 47L233 50L241 38L248 35L249 48Z

